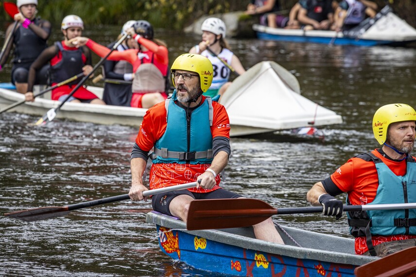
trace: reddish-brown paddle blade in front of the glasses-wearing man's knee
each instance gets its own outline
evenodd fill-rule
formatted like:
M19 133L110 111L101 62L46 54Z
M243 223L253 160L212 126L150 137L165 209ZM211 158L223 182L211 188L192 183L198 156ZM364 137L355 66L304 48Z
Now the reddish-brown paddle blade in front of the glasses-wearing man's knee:
M257 199L194 200L186 222L188 230L238 228L256 225L274 214L277 209Z

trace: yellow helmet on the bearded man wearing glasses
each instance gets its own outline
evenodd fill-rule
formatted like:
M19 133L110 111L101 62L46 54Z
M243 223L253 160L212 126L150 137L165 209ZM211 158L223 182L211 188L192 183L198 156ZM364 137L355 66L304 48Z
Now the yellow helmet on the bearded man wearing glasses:
M214 76L214 69L211 61L208 58L198 54L182 54L176 58L171 67L171 72L175 70L187 70L195 72L199 75L201 83L201 90L206 92L211 86L212 78ZM175 80L172 78L173 85Z

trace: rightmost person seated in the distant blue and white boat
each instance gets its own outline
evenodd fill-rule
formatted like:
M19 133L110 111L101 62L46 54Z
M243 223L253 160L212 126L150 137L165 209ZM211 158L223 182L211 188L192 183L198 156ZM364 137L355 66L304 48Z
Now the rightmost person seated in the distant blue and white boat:
M377 4L368 0L343 0L339 3L334 15L334 31L348 31L359 25L366 16L377 14Z

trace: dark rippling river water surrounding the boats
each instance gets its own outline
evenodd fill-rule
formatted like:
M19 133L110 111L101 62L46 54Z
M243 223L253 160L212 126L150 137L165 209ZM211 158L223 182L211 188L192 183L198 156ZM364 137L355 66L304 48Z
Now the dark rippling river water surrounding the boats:
M97 27L86 35L108 44L118 32ZM171 64L199 41L197 36L163 30L156 30L156 37L168 43ZM59 38L55 33L51 41ZM377 147L371 121L378 107L416 105L414 48L229 42L245 68L264 60L279 63L295 74L303 96L344 119L343 124L322 128L324 139L288 131L231 139L224 187L274 207L309 206L306 193L316 181L349 157ZM6 67L0 81L9 81L9 73ZM137 129L57 119L48 126L28 125L37 119L0 114L0 214L128 192ZM161 252L155 226L145 223L150 208L148 202L123 201L32 223L0 215L0 276L216 276ZM320 214L274 220L348 236L345 215L339 221Z

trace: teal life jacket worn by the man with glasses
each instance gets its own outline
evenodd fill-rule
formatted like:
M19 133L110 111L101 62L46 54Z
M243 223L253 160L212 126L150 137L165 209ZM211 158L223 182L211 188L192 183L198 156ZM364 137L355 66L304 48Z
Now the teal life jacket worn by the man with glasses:
M211 163L213 120L212 101L218 97L210 98L191 111L179 107L174 101L176 90L171 98L165 100L167 126L163 136L155 143L151 154L153 163Z

